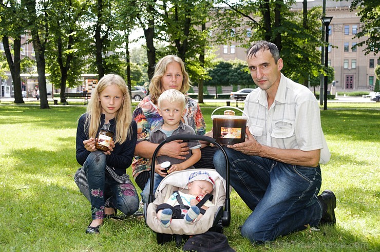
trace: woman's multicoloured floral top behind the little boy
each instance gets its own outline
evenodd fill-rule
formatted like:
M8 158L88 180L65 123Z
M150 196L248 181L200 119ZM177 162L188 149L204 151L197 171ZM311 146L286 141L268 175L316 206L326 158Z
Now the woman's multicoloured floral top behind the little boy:
M196 134L204 135L206 133L206 125L199 104L192 98L186 98L186 102L186 113L182 118L183 122L192 127ZM140 101L134 111L133 118L137 122L137 144L142 141L149 141L150 131L162 120L157 106L151 101L149 95ZM132 162L132 169L134 177L145 170L149 171L149 160L135 156Z

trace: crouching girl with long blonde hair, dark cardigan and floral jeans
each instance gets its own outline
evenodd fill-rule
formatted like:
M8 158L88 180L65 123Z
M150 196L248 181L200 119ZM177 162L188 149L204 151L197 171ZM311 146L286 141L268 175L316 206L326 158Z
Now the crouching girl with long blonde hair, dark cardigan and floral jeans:
M74 178L91 202L88 234L99 234L103 219L116 214L116 209L131 215L139 207L136 188L125 173L132 162L137 138L136 122L130 111L130 97L123 78L107 74L91 92L87 112L79 118L77 161L83 167ZM103 151L96 149L101 129L114 133Z

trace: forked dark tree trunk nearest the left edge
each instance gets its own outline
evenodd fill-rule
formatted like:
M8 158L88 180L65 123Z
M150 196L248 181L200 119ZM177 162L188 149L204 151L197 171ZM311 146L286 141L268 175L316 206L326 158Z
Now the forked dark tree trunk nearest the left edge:
M23 94L21 92L22 90L20 77L21 36L19 35L18 37L13 39L14 60L12 59L12 54L9 47L9 38L7 36L3 37L4 52L13 79L14 103L25 103L23 99Z

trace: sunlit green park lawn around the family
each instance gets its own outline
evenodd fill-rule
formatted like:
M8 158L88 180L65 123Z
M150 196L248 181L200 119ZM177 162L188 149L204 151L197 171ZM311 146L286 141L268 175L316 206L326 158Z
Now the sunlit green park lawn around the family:
M248 207L232 192L232 221L224 229L236 251L378 251L380 249L380 104L331 103L321 111L331 161L322 190L337 196L336 227L306 229L253 247L238 226ZM201 104L207 129L213 106ZM242 104L240 105L242 108ZM2 251L181 251L157 245L143 219L106 221L99 236L84 233L90 204L73 174L75 132L83 106L0 105L0 245ZM130 169L128 169L130 173Z

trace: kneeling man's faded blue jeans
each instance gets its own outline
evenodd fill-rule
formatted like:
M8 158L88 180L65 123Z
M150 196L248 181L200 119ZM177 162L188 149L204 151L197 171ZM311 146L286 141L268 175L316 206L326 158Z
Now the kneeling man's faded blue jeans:
M224 148L230 162L230 183L253 211L241 235L251 242L273 241L279 236L316 226L322 216L317 199L320 167L281 163ZM225 178L224 155L218 150L214 166Z

